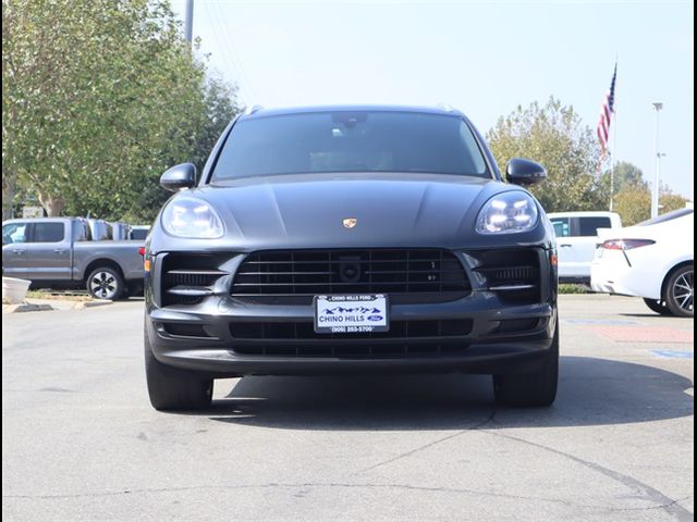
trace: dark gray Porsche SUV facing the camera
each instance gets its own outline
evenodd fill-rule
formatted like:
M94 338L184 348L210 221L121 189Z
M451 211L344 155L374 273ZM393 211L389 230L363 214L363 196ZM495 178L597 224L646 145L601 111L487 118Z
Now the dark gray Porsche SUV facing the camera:
M145 366L158 410L210 405L240 375L462 372L496 398L557 395L557 251L523 185L504 183L460 112L253 110L148 237Z

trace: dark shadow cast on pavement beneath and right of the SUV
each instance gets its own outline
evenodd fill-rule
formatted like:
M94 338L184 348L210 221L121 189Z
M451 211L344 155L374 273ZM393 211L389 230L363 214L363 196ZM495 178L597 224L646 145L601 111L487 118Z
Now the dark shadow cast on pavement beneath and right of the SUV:
M230 381L219 382L218 385ZM245 377L198 414L286 430L467 430L626 424L693 414L693 383L652 366L563 357L550 408L500 408L484 375Z

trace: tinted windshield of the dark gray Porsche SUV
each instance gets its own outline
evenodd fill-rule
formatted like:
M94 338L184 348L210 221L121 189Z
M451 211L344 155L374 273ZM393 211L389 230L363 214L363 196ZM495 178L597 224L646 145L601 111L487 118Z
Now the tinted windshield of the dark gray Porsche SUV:
M440 114L340 111L237 122L212 181L308 172L424 172L490 177L472 129Z

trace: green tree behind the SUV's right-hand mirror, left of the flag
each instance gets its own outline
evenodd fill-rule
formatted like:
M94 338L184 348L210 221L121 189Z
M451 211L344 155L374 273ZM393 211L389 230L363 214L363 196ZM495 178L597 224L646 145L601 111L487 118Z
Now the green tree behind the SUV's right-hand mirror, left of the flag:
M597 139L573 107L553 97L545 105L518 105L499 119L487 140L500 166L514 157L545 165L549 178L531 191L548 212L608 207L609 187L595 175L600 156Z

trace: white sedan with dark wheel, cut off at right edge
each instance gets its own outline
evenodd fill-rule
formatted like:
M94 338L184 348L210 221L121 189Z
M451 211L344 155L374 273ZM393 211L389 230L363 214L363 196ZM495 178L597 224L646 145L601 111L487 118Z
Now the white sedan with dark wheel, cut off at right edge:
M600 231L592 289L643 297L660 314L694 316L694 232L692 209L626 228Z

